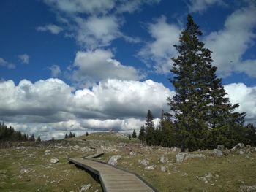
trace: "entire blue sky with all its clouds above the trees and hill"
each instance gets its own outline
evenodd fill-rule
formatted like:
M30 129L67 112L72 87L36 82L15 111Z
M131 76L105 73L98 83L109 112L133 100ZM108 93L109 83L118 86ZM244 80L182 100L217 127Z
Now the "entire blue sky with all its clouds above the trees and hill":
M2 0L0 121L42 139L155 123L191 14L232 104L256 124L253 0Z

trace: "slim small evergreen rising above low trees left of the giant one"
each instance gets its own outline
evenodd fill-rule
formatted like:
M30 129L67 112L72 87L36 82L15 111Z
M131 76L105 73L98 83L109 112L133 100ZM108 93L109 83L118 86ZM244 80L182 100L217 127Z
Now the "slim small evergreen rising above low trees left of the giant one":
M148 110L148 114L146 116L146 144L154 145L154 117L151 110Z

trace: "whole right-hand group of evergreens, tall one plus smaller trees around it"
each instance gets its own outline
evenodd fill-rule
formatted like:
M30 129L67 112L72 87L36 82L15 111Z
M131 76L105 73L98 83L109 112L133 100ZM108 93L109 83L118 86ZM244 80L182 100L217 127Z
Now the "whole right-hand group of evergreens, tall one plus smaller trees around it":
M238 142L256 145L255 127L244 126L246 113L236 112L239 104L230 103L217 67L211 65L211 50L199 40L201 35L188 15L187 28L174 45L179 54L172 58L170 82L176 94L167 99L170 112L162 112L159 126L154 126L148 110L138 136L146 145L177 146L181 151L233 147Z

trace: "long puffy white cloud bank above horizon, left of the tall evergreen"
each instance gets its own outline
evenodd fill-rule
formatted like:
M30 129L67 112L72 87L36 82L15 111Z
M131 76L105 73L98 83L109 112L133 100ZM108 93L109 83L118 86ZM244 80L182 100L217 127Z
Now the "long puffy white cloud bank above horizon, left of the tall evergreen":
M20 131L61 137L64 131L130 131L140 128L148 109L155 117L169 110L173 91L152 80L103 80L91 89L78 89L59 79L0 82L0 120ZM61 132L62 131L62 132ZM42 132L42 133L41 133ZM61 134L62 133L62 134Z

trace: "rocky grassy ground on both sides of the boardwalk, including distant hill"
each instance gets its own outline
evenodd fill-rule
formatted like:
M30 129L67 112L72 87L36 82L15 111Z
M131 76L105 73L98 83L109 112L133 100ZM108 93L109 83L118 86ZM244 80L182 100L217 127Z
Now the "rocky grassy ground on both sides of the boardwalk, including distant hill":
M101 148L98 161L140 174L159 191L256 191L256 147L180 153L147 147L121 134L99 133L0 149L0 191L102 191L97 177L69 164ZM27 144L26 144L27 145Z

